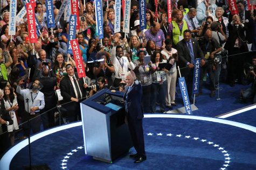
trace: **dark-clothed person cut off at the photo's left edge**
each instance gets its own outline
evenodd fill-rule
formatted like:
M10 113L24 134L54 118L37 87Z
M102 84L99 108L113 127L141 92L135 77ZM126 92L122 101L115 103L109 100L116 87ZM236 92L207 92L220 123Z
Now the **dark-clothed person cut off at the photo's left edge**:
M8 137L7 125L13 123L9 112L0 108L0 156L8 147L11 146L10 138Z

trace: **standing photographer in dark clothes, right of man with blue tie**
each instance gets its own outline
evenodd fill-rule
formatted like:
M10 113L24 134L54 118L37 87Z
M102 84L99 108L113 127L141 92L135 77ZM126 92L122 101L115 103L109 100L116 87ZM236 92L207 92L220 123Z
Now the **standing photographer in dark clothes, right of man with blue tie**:
M215 38L212 38L212 31L210 29L205 32L204 38L199 41L199 45L206 61L206 64L201 69L199 93L202 93L203 77L208 73L210 78L210 97L214 97L216 90L215 72L217 71L216 64L218 64L215 58L217 58L217 53L222 51L222 47L220 47Z

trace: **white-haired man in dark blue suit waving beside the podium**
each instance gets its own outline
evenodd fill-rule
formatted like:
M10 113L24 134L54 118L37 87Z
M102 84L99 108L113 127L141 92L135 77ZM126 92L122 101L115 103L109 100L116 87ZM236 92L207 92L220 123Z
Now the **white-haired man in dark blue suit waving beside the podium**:
M124 93L124 103L126 107L126 120L128 123L130 135L136 154L131 154L130 157L135 158L134 163L140 163L147 159L144 136L142 127L143 109L142 109L142 87L136 79L133 71L126 73L126 88ZM135 80L135 81L134 81Z

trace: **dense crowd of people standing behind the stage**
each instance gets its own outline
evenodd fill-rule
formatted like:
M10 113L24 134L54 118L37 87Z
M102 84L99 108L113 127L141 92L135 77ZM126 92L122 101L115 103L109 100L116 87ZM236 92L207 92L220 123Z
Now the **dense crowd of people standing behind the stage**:
M63 2L53 1L54 17ZM61 112L68 122L80 120L79 101L102 88L114 86L124 91L124 75L129 70L135 72L142 86L144 113L162 113L177 106L177 66L185 77L189 99L193 100L196 58L201 58L197 95L202 94L207 79L210 97L215 97L220 81L230 86L252 83L250 89L241 92L241 100L256 102L256 59L250 53L256 49L256 12L249 10L247 1L237 1L238 13L233 16L225 0L171 1L171 22L166 1L158 1L157 12L155 1L145 2L146 29L140 29L139 2L132 0L130 32L123 32L121 12L121 31L115 33L115 1L102 1L104 38L99 40L94 2L84 4L79 0L80 25L75 36L87 80L95 80L94 86L78 77L74 58L67 53L69 23L64 16L51 31L47 28L45 1L36 1L35 17L41 29L38 41L30 43L26 15L17 22L16 34L9 35L10 0L2 1L0 88L1 110L5 111L1 111L0 132L8 131L1 135L6 147L13 145L21 123L31 120L22 125L24 137L31 129L39 132L41 123L44 129L56 125L57 105L64 104ZM22 1L17 1L17 13L23 6ZM56 95L58 91L63 100Z

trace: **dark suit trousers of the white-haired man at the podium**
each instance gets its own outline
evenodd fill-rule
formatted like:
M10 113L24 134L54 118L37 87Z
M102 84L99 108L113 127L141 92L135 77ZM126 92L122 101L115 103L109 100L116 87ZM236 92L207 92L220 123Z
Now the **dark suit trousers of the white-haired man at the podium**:
M142 119L132 119L128 115L127 122L135 150L140 156L146 156Z

